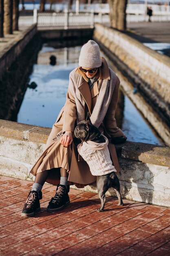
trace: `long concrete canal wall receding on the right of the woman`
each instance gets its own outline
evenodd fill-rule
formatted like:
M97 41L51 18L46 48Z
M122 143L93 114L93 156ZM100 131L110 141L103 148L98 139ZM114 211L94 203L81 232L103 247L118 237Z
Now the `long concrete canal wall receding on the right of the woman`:
M170 145L170 58L102 24L95 24L93 38L117 67L128 97Z

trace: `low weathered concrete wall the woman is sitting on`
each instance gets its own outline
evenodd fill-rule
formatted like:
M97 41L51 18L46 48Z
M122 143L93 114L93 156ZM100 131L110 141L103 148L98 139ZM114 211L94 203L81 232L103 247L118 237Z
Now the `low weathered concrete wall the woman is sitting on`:
M41 155L51 128L0 120L0 175L33 180L32 164ZM126 142L116 147L124 198L170 207L170 148ZM95 191L86 186L84 191ZM108 195L115 195L110 189Z

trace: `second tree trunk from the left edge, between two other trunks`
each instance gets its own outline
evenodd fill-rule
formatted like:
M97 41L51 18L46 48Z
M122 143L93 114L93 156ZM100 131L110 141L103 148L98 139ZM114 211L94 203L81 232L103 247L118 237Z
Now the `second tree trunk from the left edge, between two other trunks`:
M12 34L13 0L4 0L4 34Z

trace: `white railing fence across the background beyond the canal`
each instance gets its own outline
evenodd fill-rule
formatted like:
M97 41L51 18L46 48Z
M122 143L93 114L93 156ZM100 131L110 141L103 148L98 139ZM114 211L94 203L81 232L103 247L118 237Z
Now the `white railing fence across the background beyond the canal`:
M94 4L89 5L86 11L79 11L77 13L73 11L65 10L63 12L43 12L38 13L37 9L34 9L32 14L25 13L20 15L19 26L30 26L35 22L38 22L38 27L94 27L95 22L110 23L109 18L109 5L102 4L94 10ZM151 21L169 21L170 20L170 6L150 4L152 8ZM81 8L79 8L81 9ZM146 4L128 4L127 22L147 22L148 16L146 13Z

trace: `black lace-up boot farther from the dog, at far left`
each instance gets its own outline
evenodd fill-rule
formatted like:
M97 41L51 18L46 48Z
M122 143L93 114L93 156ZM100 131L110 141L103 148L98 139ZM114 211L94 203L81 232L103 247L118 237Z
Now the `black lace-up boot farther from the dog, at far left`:
M21 216L31 217L38 213L40 211L40 199L42 199L41 191L30 191Z

